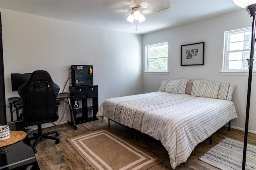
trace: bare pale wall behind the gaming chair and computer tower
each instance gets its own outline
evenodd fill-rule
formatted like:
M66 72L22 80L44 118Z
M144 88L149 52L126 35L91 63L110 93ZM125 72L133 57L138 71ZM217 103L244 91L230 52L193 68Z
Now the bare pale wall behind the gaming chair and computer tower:
M18 96L11 90L10 73L46 70L62 92L71 65L93 65L99 104L108 98L142 93L141 35L0 10L6 104L8 98ZM10 121L10 109L6 109ZM67 107L64 115L62 102L61 123L70 120L69 113Z

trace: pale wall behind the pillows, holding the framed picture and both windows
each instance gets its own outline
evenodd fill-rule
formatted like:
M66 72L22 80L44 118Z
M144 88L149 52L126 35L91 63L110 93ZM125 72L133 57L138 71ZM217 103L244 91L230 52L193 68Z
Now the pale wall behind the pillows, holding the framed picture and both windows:
M232 127L244 129L248 74L244 76L221 75L223 60L224 31L252 27L252 18L245 10L228 13L207 20L181 25L142 36L143 63L145 45L169 42L169 74L143 74L143 92L158 90L162 78L190 80L211 80L214 82L236 83L232 101L236 106L238 118L231 121ZM180 66L180 46L205 42L204 65ZM143 64L143 71L145 64ZM256 133L256 76L252 77L252 96L250 105L249 130Z

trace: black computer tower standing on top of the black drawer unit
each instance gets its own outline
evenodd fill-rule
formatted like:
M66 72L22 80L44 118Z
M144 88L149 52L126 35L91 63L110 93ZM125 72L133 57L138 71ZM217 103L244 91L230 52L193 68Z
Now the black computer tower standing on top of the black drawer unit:
M92 65L72 65L72 86L88 86L93 84Z

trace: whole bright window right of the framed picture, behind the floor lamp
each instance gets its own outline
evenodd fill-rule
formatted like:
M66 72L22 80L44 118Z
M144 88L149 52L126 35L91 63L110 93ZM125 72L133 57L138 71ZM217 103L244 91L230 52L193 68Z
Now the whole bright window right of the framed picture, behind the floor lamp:
M248 70L250 59L252 28L225 32L223 71ZM253 68L256 69L256 49L254 48Z

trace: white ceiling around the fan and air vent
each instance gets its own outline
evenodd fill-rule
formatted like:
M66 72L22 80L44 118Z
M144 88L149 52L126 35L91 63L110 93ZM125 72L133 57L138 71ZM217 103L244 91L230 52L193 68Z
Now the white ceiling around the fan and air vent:
M131 4L148 6L137 31L126 21ZM171 8L151 11L162 5ZM232 0L0 0L0 8L142 35L241 9Z

